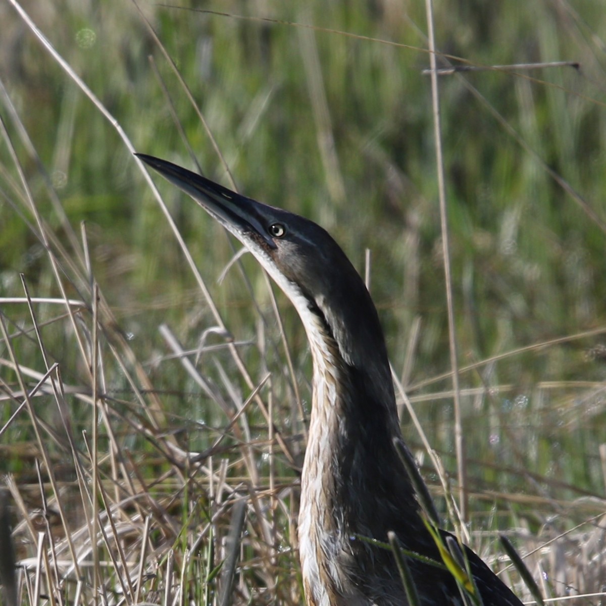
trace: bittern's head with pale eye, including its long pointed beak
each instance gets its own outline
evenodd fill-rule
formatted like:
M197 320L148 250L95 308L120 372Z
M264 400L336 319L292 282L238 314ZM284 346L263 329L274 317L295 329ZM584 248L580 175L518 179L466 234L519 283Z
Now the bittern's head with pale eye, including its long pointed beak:
M176 164L137 154L195 199L255 256L290 298L310 341L324 325L347 364L358 366L373 351L379 367L387 353L375 305L364 282L322 227L294 213L262 204ZM364 350L359 350L360 347ZM390 383L390 378L387 376Z

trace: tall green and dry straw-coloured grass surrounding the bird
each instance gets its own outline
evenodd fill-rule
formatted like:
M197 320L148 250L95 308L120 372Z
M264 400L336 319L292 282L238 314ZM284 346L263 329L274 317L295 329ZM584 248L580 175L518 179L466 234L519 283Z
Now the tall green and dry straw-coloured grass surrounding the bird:
M0 471L20 602L302 601L304 332L253 259L230 264L221 228L158 182L171 224L127 141L226 185L228 167L246 195L324 225L361 273L370 248L395 375L445 471L402 396L404 435L455 524L424 4L25 8L65 68L4 0ZM581 66L439 84L470 542L521 596L497 532L545 596L600 604L606 17L504 0L434 18L455 64Z

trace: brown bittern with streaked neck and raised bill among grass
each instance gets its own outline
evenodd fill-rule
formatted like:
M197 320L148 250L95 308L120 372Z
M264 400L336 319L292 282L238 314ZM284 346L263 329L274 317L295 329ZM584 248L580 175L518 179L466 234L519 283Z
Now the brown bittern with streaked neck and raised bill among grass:
M412 600L421 606L522 606L470 548L457 543L459 570L465 568L473 578L470 593L462 591L452 566L444 565L444 545L453 536L431 532L415 474L399 454L408 451L378 312L335 240L302 216L171 162L136 156L191 196L252 253L304 325L313 361L298 523L305 604L409 606ZM389 533L405 550L414 599L402 583L393 550L385 546Z

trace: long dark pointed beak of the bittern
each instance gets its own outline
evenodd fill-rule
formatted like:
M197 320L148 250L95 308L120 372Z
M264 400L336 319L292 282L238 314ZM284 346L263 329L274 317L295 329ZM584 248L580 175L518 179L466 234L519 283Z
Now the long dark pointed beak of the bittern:
M267 233L265 218L271 207L241 196L172 162L141 153L136 153L135 156L195 199L209 215L217 219L243 244L252 237L265 247L276 248L275 242ZM248 238L243 240L241 236Z

